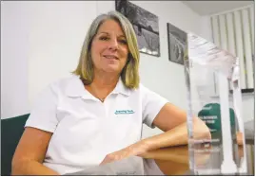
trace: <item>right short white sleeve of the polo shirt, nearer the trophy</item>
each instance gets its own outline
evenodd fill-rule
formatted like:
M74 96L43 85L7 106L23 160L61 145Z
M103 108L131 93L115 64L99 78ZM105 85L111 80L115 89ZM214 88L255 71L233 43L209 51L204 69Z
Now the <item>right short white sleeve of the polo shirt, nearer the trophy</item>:
M152 122L168 100L165 97L161 97L155 92L150 91L143 85L141 85L141 94L143 123L150 128L155 128Z

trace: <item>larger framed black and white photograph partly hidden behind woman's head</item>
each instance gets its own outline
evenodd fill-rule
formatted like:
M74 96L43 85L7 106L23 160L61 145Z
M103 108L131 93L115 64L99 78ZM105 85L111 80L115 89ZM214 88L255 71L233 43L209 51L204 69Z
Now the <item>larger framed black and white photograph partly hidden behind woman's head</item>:
M160 57L158 17L127 0L116 0L115 8L132 24L140 52Z

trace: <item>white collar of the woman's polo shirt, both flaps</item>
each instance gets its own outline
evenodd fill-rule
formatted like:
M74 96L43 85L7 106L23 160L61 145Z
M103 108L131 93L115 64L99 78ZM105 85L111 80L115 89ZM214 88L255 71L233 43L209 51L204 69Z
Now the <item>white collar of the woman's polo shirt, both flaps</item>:
M130 89L126 87L126 85L121 80L121 77L119 78L114 90L111 92L111 94L123 94L125 96L130 95ZM80 80L78 76L73 76L67 85L66 88L66 95L68 97L83 97L83 98L91 98L91 95L89 94L89 91L85 89L85 86Z

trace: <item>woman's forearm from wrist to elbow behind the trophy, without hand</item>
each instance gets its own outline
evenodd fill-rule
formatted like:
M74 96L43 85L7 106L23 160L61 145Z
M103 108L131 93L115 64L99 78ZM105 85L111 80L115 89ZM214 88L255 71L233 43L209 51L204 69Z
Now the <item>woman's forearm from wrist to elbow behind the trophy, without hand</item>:
M207 125L199 118L194 118L194 138L210 139L211 135ZM156 150L170 146L187 145L187 122L152 137L142 140L143 144L147 144L148 150Z

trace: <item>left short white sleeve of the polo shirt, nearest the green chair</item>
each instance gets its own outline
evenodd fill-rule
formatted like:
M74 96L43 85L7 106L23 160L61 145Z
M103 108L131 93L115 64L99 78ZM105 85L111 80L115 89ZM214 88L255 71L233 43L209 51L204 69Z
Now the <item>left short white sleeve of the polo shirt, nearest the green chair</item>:
M57 127L57 95L52 85L44 89L36 98L25 127L33 127L53 133Z

